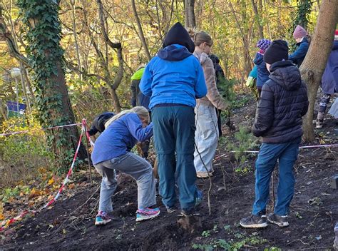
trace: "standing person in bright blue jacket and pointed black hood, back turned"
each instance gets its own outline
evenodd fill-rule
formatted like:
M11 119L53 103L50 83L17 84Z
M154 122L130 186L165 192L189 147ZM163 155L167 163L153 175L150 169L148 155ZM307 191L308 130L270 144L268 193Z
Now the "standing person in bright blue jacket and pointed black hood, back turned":
M194 108L196 98L207 94L207 87L194 50L188 31L176 23L140 81L140 91L150 97L160 195L167 211L175 212L177 183L184 215L193 214L202 199L195 185Z

